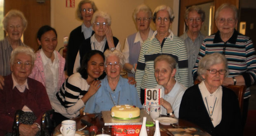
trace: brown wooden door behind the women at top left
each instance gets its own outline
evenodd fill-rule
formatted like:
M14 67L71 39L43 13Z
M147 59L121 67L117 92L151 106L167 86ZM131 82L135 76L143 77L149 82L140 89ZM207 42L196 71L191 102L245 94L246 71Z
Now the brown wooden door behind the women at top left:
M5 0L4 14L11 9L18 9L23 12L28 25L23 34L24 44L38 50L36 34L41 26L50 26L50 0L45 3L38 3L36 0Z

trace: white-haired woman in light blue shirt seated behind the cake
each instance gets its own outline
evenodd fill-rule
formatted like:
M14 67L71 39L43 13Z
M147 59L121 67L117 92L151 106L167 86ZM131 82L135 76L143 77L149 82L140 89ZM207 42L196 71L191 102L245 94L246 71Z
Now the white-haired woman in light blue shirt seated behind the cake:
M104 52L107 76L101 80L100 89L87 101L85 113L100 113L117 105L131 105L141 108L140 98L134 85L121 77L125 56L119 51L109 49Z

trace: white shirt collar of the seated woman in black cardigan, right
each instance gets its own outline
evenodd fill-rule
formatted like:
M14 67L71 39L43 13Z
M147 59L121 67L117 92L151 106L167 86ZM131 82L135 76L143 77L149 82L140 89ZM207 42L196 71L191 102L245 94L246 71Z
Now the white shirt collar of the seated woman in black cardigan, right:
M198 85L200 91L201 91L201 94L202 94L202 97L203 99L207 96L216 96L217 98L219 98L220 96L220 93L222 93L222 87L219 86L218 89L216 89L216 91L214 91L212 94L208 91L208 89L206 88L205 86L205 83L204 81L202 81L199 85Z

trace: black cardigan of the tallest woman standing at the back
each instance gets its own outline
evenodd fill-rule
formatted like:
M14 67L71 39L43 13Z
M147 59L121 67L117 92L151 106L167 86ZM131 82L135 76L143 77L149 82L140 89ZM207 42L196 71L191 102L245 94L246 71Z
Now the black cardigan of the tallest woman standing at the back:
M92 31L92 35L94 31ZM69 35L69 43L67 46L67 54L66 54L66 70L68 76L73 74L73 67L76 60L76 55L81 43L85 41L82 26L78 26L74 30L71 31Z

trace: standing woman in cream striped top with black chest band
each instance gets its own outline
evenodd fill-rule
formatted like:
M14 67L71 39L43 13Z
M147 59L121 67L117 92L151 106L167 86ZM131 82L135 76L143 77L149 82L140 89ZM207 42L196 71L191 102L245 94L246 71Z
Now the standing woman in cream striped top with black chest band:
M188 86L187 52L183 40L173 35L169 29L173 19L173 11L166 5L158 6L154 10L153 21L156 24L156 31L151 38L143 42L135 73L141 103L144 103L144 90L154 88L157 84L154 77L154 59L161 54L175 58L175 78L185 87Z

